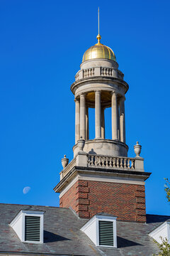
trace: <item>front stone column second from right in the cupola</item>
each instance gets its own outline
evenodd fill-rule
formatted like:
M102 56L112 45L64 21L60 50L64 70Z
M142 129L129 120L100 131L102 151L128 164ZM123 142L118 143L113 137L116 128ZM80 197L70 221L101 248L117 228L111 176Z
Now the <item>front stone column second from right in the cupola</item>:
M112 108L112 139L118 139L118 100L115 92L112 94L111 101Z

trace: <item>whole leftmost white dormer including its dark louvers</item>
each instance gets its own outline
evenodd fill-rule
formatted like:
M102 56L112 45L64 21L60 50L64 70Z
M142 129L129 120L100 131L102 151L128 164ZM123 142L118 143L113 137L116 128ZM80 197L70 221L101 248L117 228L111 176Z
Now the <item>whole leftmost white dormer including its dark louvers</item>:
M9 224L21 242L43 242L43 214L40 211L21 210Z

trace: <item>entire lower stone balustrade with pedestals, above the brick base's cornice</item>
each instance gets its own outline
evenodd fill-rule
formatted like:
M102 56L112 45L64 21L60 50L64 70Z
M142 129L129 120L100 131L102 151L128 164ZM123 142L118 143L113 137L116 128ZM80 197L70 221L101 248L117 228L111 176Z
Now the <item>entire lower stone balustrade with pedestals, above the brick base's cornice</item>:
M102 168L102 169L119 169L125 171L144 171L144 159L142 157L125 157L125 156L102 156L95 154L86 154L79 151L77 156L60 172L60 180L66 176L74 166Z

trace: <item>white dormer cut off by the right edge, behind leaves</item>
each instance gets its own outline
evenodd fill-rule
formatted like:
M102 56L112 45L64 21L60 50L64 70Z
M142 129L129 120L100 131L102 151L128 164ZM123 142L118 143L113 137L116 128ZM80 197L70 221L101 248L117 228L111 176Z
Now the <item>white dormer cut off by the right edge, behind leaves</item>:
M170 221L165 221L162 223L162 225L159 225L159 227L155 228L151 233L149 233L149 236L154 238L154 240L160 244L162 243L162 239L165 238L170 243Z

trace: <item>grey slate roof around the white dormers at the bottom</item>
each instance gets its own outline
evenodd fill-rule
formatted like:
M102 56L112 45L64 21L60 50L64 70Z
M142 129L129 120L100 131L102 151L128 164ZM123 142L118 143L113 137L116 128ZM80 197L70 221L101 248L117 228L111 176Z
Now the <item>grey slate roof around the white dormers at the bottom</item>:
M44 243L21 242L8 225L20 210L44 211ZM74 256L151 256L157 245L147 235L169 216L147 215L147 224L117 221L118 248L96 247L80 230L86 220L69 208L0 204L0 254Z

